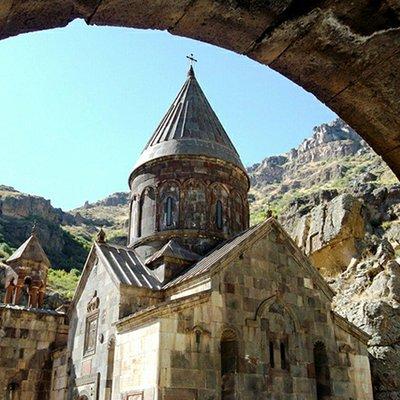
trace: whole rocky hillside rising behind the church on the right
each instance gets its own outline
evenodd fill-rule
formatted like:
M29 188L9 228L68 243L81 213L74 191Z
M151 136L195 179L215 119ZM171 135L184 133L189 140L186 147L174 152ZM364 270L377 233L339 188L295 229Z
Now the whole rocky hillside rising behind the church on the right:
M336 120L249 169L253 216L272 209L336 290L335 310L371 335L375 399L400 399L400 185Z

